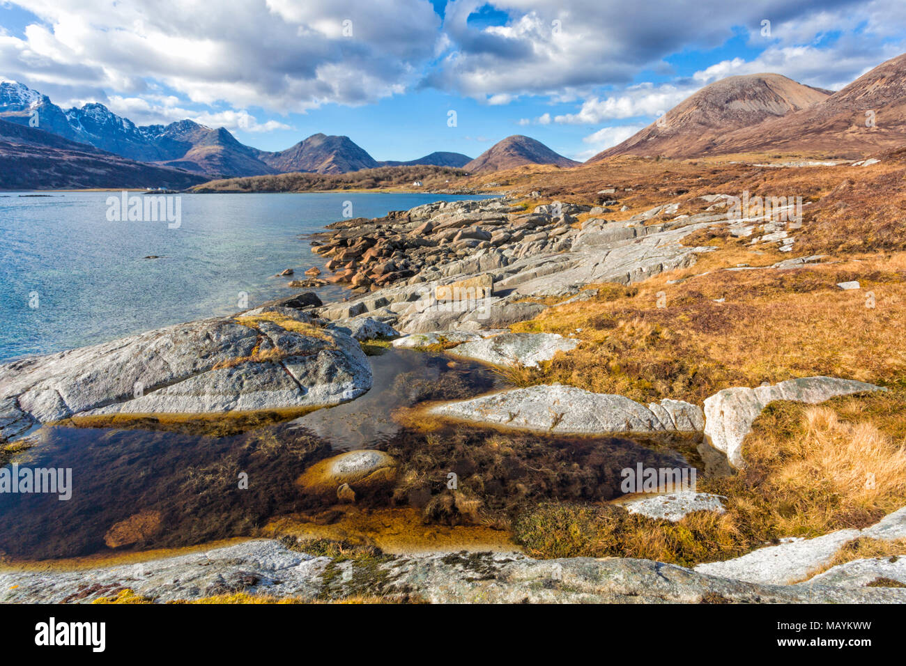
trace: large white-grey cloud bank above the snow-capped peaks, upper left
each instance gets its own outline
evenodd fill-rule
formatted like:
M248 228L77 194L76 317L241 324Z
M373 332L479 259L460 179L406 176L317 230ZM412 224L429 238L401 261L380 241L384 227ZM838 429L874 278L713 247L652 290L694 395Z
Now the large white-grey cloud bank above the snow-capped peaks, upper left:
M14 0L37 15L0 36L0 70L68 100L141 95L149 80L190 101L305 111L405 90L435 54L428 0Z

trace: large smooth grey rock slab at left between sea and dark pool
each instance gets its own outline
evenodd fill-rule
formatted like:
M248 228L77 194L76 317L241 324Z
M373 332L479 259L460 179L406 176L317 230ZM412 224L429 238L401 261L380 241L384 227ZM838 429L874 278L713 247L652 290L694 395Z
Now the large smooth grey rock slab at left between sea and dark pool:
M349 335L290 308L252 312L0 366L0 440L71 417L319 407L371 388Z

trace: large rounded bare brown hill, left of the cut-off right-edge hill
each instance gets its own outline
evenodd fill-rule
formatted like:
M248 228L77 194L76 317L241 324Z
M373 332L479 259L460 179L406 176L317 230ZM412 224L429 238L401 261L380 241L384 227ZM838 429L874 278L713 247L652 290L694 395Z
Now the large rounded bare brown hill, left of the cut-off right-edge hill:
M780 74L730 76L705 86L658 122L598 153L588 163L614 155L698 157L716 150L732 130L811 108L829 95Z

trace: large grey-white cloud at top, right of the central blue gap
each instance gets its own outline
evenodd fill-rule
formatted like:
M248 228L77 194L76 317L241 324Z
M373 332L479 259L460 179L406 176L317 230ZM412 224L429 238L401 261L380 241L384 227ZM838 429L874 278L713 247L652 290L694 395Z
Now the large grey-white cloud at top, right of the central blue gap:
M876 0L894 3L898 0ZM503 25L470 24L483 0L451 0L443 29L457 57L442 61L423 84L487 100L499 95L564 95L595 86L629 85L645 69L684 49L707 50L725 43L741 26L760 34L770 17L775 34L805 16L805 32L859 25L853 7L863 0L500 0L492 5L509 20ZM864 17L868 12L863 12ZM640 17L643 19L640 20ZM798 36L797 36L798 38ZM808 39L814 38L814 32ZM753 38L754 39L754 38ZM776 40L771 43L776 43Z

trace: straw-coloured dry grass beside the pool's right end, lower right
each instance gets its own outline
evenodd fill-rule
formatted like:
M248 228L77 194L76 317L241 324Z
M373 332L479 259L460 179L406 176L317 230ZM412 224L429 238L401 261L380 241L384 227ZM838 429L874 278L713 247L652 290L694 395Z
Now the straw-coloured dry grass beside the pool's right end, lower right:
M696 512L670 523L622 507L545 505L516 521L516 542L537 557L695 565L784 536L872 525L906 505L906 391L891 393L835 399L830 407L770 405L745 440L746 468L699 483L728 498L724 514ZM840 416L853 413L862 420Z

